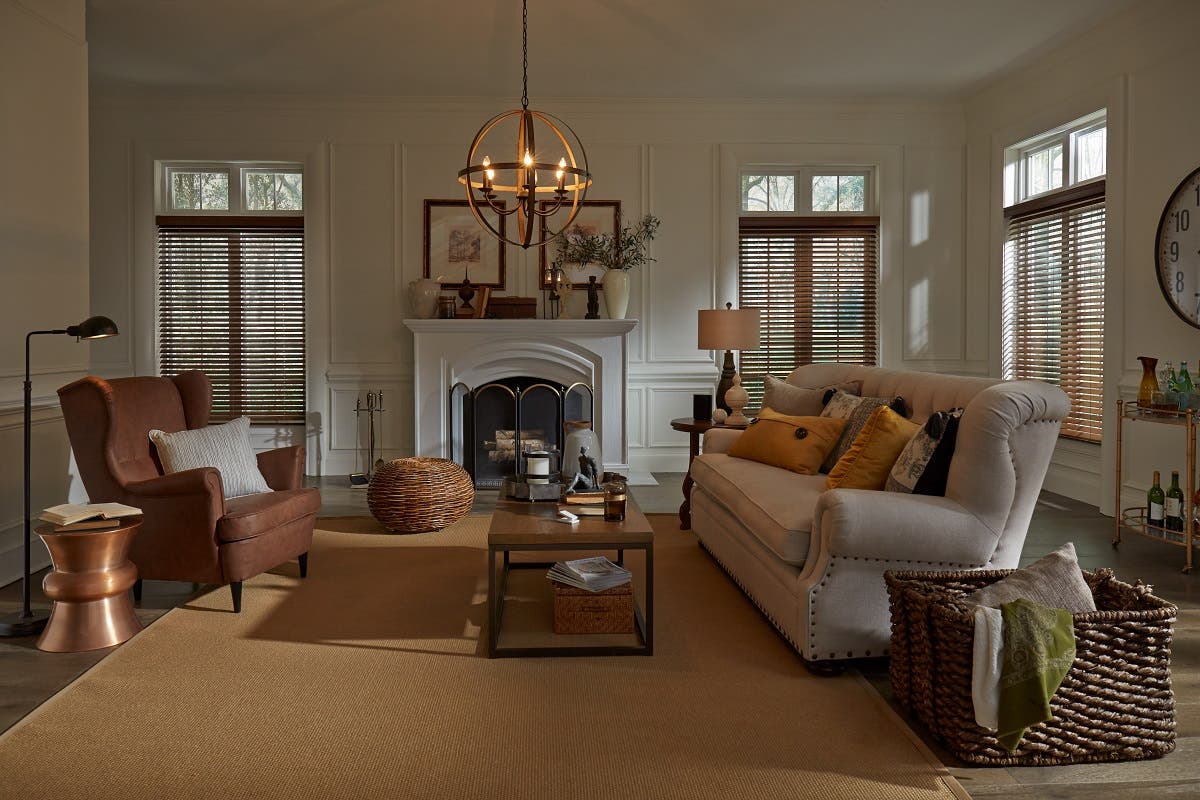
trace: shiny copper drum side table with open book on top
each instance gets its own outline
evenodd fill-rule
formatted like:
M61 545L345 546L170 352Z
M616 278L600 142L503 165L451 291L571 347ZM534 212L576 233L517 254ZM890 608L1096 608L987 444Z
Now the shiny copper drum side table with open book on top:
M54 607L37 639L40 650L98 650L142 630L130 597L138 578L130 545L140 527L142 517L128 517L108 530L54 533L54 525L37 527L54 561L54 570L42 582Z

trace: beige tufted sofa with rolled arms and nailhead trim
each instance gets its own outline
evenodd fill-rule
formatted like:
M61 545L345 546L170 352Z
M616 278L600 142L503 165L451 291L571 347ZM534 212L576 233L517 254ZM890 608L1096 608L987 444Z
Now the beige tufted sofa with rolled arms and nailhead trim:
M996 381L824 363L787 381L862 380L902 396L912 419L964 408L946 497L824 491L798 475L726 455L740 432L714 428L692 463L692 530L800 655L881 656L890 634L887 570L1015 567L1067 396L1039 381Z

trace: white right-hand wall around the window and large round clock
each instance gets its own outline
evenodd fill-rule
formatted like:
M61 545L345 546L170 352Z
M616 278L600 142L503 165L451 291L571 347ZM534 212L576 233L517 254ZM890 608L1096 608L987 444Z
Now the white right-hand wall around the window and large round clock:
M1001 166L1003 148L1109 109L1108 291L1103 446L1063 441L1048 488L1098 504L1111 513L1115 405L1136 397L1136 356L1195 362L1200 331L1174 313L1159 293L1152 258L1163 206L1180 180L1200 166L1200 85L1195 31L1200 4L1136 4L1054 54L982 91L966 103L967 273L972 357L1000 368ZM1124 505L1145 504L1151 471L1182 471L1177 431L1138 423L1127 428Z

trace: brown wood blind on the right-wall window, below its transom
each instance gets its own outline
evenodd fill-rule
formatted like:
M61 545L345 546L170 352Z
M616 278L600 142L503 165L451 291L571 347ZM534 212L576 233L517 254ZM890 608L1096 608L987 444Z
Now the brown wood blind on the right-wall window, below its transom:
M1057 204L1014 206L1008 216L1004 377L1058 385L1070 398L1062 435L1099 441L1104 431L1104 184Z

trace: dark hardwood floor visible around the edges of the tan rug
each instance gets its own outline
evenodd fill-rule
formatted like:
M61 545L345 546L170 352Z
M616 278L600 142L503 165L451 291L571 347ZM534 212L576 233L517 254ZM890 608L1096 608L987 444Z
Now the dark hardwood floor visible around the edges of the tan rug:
M659 486L635 486L631 492L647 513L674 513L680 500L680 474L655 474ZM350 489L344 479L312 481L322 489L322 516L366 513L366 492ZM491 493L480 493L472 513L491 511ZM1111 566L1123 581L1142 579L1180 607L1175 634L1172 676L1178 704L1178 748L1164 759L1081 766L980 769L956 764L936 742L926 744L950 766L973 798L1193 798L1200 796L1200 571L1180 571L1183 552L1138 536L1120 549L1109 543L1112 521L1094 507L1054 494L1043 494L1030 527L1021 563L1028 564L1062 542L1074 542L1085 567ZM35 576L36 602L41 575ZM138 616L150 624L170 608L208 591L209 587L145 582ZM0 613L19 608L20 584L0 589ZM109 650L48 654L30 639L0 639L0 730L8 728L38 704L100 662ZM882 660L858 662L858 668L884 697L889 697L887 664ZM918 733L920 733L918 730Z

